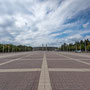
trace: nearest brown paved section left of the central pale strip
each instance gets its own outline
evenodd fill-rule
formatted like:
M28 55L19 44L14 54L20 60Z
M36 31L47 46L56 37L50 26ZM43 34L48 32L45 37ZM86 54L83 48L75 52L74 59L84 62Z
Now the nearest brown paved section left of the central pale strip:
M0 90L37 90L40 72L0 73Z

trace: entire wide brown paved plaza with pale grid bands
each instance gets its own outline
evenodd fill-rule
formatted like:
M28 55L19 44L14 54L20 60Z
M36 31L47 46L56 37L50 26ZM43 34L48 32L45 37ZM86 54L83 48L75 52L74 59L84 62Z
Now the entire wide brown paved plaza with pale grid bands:
M90 53L0 54L0 90L90 90Z

